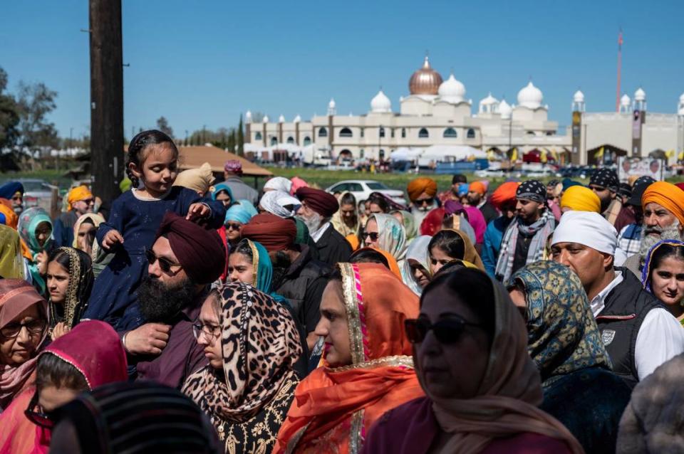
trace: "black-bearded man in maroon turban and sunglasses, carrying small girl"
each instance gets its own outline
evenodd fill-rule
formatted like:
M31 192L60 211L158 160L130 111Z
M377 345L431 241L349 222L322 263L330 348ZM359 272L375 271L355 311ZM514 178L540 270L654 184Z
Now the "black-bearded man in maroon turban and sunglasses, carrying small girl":
M123 347L129 364L135 364L136 379L180 388L207 364L192 324L209 285L224 273L225 246L217 231L169 211L145 255L148 276L138 289L138 302L147 323L125 332Z

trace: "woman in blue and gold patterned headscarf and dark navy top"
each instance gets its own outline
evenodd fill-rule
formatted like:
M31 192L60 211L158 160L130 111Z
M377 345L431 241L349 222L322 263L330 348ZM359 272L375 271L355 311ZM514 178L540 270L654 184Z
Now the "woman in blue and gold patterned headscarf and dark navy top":
M541 409L569 429L587 453L614 453L631 390L611 360L584 287L570 268L531 263L508 284L527 320L527 351L541 374ZM591 411L587 411L591 409Z

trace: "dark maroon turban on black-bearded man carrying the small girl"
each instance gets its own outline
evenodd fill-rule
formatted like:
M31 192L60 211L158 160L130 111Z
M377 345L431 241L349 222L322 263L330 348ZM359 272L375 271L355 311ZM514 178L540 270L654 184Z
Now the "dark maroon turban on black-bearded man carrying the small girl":
M196 283L212 283L224 272L226 246L217 231L167 211L157 230L157 238L160 236L168 239L183 270Z

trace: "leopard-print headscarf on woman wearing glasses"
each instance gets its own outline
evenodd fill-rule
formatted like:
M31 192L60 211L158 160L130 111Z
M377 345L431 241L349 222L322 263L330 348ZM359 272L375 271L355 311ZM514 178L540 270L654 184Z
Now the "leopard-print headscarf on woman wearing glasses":
M301 355L296 324L284 305L244 283L218 287L223 374L204 367L185 381L183 392L209 415L243 423L271 401L281 385L296 379ZM209 398L210 397L210 398ZM222 421L214 421L218 428Z

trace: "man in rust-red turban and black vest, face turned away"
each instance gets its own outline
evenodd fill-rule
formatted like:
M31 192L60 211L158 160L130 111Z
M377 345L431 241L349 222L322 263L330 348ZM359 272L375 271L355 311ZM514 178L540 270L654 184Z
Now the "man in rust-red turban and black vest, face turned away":
M311 352L317 339L314 329L321 318L321 297L331 269L313 258L309 246L295 244L296 233L293 219L271 213L257 214L242 228L242 238L258 241L269 251L272 288L290 302L296 320L306 330L306 344Z

